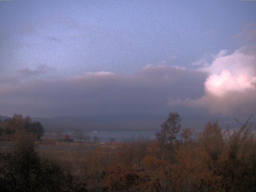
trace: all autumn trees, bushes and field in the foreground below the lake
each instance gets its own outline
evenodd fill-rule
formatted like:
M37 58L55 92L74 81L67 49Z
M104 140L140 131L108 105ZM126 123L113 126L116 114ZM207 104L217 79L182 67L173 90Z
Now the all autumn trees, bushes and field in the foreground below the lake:
M25 119L14 116L0 122L2 140L14 142L10 152L1 151L0 163L13 173L16 191L256 191L256 140L250 119L236 131L223 131L214 122L194 132L182 129L180 116L170 113L153 141L49 142L48 148L36 141L39 123L27 121L27 128Z

